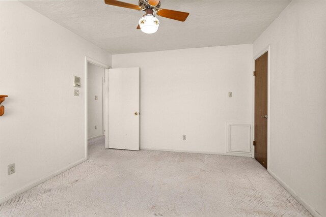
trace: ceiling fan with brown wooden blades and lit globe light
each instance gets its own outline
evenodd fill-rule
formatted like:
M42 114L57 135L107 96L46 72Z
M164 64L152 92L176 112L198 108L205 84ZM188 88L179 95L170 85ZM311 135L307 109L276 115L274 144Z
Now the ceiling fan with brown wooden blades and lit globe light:
M107 5L114 5L123 8L129 8L139 11L145 11L146 14L139 20L139 25L137 29L141 29L144 33L156 33L159 20L155 17L155 14L161 17L166 17L178 21L185 21L189 13L181 11L173 11L169 9L161 9L161 2L159 0L139 0L138 5L133 5L125 2L120 2L116 0L104 0Z

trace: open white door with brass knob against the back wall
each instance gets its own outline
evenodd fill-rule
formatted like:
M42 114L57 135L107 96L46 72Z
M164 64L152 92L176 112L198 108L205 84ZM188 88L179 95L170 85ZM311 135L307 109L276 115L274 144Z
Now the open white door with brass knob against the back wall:
M108 70L108 148L139 150L139 68Z

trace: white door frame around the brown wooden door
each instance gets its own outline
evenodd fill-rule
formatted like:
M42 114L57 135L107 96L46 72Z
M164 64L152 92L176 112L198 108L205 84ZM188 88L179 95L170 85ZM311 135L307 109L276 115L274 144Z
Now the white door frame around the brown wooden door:
M270 153L270 45L262 49L253 59L253 71L255 71L255 60L258 59L261 55L268 52L267 56L267 172L269 171L269 153ZM253 141L255 140L255 76L253 76L252 82L252 102L253 102ZM252 158L255 158L255 146L252 144Z

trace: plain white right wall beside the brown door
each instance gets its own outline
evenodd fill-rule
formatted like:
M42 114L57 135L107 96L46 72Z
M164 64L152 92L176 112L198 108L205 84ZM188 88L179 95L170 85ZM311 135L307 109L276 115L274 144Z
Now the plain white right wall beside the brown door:
M326 216L326 2L292 1L254 42L270 45L270 172ZM316 210L316 211L314 211Z

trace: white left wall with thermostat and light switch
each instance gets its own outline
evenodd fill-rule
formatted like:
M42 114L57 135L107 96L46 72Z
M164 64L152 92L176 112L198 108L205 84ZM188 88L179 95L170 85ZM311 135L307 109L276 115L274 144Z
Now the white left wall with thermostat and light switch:
M111 55L16 1L0 2L0 28L0 95L9 96L0 117L3 202L85 159L85 56L111 65Z

